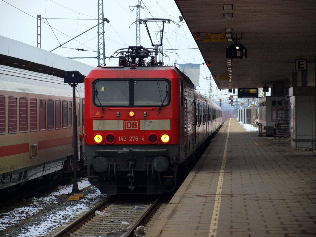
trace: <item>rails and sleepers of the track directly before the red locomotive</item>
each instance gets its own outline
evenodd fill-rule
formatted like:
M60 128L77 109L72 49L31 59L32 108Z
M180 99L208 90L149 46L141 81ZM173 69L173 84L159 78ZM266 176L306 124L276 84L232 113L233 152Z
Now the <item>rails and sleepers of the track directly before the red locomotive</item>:
M83 236L144 236L167 202L129 200L110 197L50 237Z

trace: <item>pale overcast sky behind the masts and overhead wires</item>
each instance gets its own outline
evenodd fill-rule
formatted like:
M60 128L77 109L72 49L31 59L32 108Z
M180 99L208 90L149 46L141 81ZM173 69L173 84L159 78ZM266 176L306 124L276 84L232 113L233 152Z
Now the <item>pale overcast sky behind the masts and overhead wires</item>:
M167 18L180 25L166 24L164 29L163 50L169 56L164 57L165 65L201 64L200 92L209 94L210 71L203 65L203 57L185 21L179 21L180 12L173 0L142 0L140 18ZM104 0L106 57L116 50L136 44L136 6L138 0ZM71 38L98 24L99 1L83 0L0 0L0 34L10 39L37 46L37 15L41 15L42 49L51 51ZM84 20L80 20L84 19ZM160 25L150 26L151 37L159 34ZM64 57L96 57L98 50L98 27L77 37L58 48L53 53ZM152 48L147 31L140 27L141 45ZM78 51L75 48L84 49ZM97 59L75 59L91 66L97 66ZM117 59L106 59L106 65L118 65ZM213 83L213 94L216 84Z

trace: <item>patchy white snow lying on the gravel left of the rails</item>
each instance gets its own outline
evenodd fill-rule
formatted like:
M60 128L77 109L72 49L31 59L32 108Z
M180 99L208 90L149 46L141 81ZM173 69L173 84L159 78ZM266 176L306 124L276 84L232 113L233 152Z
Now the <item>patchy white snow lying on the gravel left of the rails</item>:
M78 188L83 189L88 187L90 183L87 179L78 181ZM65 205L59 206L59 198L61 195L69 195L72 192L73 185L59 186L58 189L50 193L46 197L33 197L31 198L32 204L28 206L16 208L8 213L0 214L0 236L1 230L6 230L15 225L15 223L20 223L21 220L27 218L33 218L41 210L45 210L49 206L55 206L56 209L46 212L41 217L36 217L33 220L33 224L29 223L27 227L22 228L19 233L11 233L11 237L41 237L46 236L52 230L56 229L58 226L62 225L64 222L69 221L71 218L77 216L77 214L82 211L89 210L89 206L100 201L104 195L100 194L100 191L95 187L89 189L85 192L85 197L80 201L68 201L64 203ZM70 196L70 195L69 195ZM37 220L36 220L37 219Z

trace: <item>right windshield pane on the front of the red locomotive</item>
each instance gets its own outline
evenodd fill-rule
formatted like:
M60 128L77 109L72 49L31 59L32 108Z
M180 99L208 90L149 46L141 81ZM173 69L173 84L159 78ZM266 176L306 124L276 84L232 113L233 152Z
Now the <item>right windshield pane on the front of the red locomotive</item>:
M170 102L169 83L165 80L135 80L133 86L134 106L166 106Z

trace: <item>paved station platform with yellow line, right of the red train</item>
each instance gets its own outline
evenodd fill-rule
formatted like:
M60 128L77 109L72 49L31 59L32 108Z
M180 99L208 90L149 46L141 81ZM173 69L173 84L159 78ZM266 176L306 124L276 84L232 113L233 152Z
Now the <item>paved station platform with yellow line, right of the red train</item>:
M315 236L315 166L228 119L146 237Z

